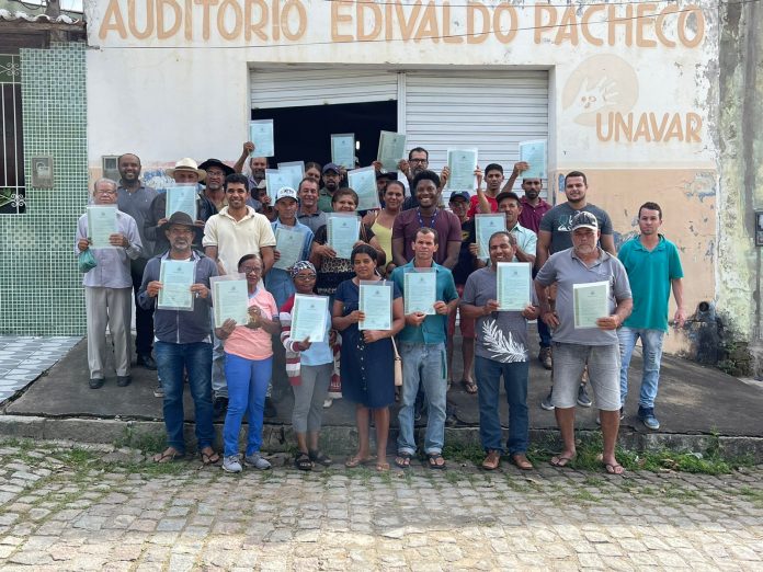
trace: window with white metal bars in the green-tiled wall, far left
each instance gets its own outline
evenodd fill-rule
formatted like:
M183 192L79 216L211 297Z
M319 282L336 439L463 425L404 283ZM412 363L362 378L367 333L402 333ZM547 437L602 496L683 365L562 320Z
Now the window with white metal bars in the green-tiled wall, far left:
M24 213L24 145L21 121L21 61L18 55L0 54L0 215Z

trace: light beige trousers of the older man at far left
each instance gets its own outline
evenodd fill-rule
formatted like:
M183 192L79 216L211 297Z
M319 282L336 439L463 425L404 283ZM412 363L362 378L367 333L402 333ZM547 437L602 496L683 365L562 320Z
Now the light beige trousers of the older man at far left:
M86 286L84 309L88 313L88 367L91 379L106 377L106 325L114 341L117 376L129 375L133 288L95 288Z

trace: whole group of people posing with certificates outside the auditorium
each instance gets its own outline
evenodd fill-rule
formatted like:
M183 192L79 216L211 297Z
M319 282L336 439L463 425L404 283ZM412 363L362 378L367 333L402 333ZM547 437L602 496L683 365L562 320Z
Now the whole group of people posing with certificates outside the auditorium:
M527 322L532 320L537 320L538 358L551 369L553 388L543 407L555 410L563 442L553 465L563 467L576 456L574 405L591 404L582 384L587 381L600 410L603 464L607 472L623 472L615 442L638 339L645 355L638 416L648 427L659 427L654 399L671 289L677 304L675 322L682 325L685 320L681 262L676 247L659 232L659 205L649 202L639 208L639 233L622 244L617 255L610 217L587 201L584 173L567 174L567 201L551 207L540 198L539 179L522 180L523 196L512 191L526 163L516 163L508 180L502 167L492 163L475 172L474 194L453 192L445 208L447 168L441 174L429 170L429 153L414 148L398 165L400 180L374 163L382 208L358 213L357 241L350 259L343 259L331 248L327 217L357 213L357 194L343 184L344 169L306 163L298 188L266 190L267 159L250 158L254 153L254 146L246 142L232 168L217 159L196 164L186 158L167 170L178 184L197 185L197 220L184 213L168 218L166 195L143 185L137 156L123 155L119 182L96 181L92 197L96 205L118 206L117 232L110 237L115 248L91 249L87 216L79 220L76 251L91 250L96 262L83 277L90 387L104 384L106 325L114 343L116 384L130 382L134 293L137 364L158 368L157 394L163 398L168 446L156 461L185 455L182 396L187 380L203 461L220 460L213 448L213 420L224 414L223 468L241 471L241 461L270 468L260 450L263 416L272 409L267 396L275 343L283 344L285 374L294 392L298 469L332 462L319 447L319 435L329 396L340 387L342 397L355 403L358 430L357 450L345 461L348 467L372 464L379 471L389 469L390 405L397 398L395 465L409 467L420 450L430 468L443 469L457 316L460 381L478 397L485 469L497 469L506 453L520 469L533 468L526 456ZM505 216L505 230L490 237L489 259L483 260L478 255L475 215L490 213ZM303 238L300 261L288 268L274 267L281 260L278 229L297 231ZM192 311L157 308L162 260L196 262ZM499 309L501 262L525 262L534 268L532 301L521 311ZM406 313L405 276L421 268L435 273L436 301L431 312ZM213 328L212 278L234 273L246 276L249 321L227 320ZM361 282L383 279L392 286L391 329L362 330ZM599 318L596 328L576 328L574 286L601 282L610 285L607 314ZM323 341L292 338L295 294L329 297ZM396 396L397 355L402 361L402 387ZM501 377L509 403L505 447L499 414ZM421 403L426 428L417 445L414 421ZM244 414L248 439L241 459L238 437Z

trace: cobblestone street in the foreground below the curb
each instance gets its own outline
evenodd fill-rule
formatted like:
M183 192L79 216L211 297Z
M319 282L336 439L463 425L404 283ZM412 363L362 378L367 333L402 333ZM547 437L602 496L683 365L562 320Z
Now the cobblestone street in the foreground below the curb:
M761 477L454 462L234 476L127 449L4 442L0 568L761 570Z

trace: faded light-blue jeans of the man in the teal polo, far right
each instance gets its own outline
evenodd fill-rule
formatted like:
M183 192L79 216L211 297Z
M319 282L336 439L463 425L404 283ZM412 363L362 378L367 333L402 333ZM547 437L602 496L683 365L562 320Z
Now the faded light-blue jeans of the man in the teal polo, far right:
M660 361L662 359L662 330L646 330L623 327L617 330L620 350L620 403L625 404L628 394L628 366L634 355L636 340L641 339L644 347L644 371L641 373L641 393L638 404L642 408L653 408L657 398L657 385L660 380Z

